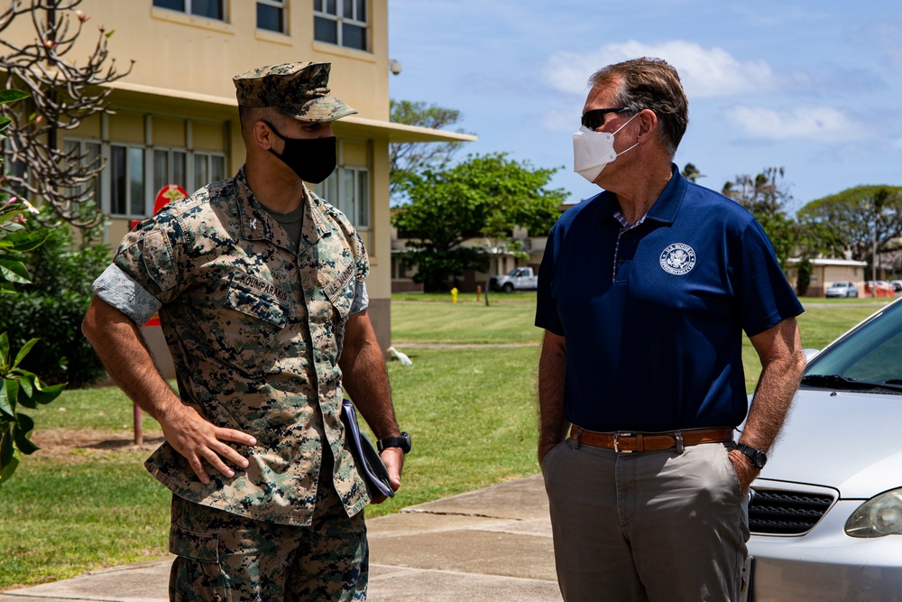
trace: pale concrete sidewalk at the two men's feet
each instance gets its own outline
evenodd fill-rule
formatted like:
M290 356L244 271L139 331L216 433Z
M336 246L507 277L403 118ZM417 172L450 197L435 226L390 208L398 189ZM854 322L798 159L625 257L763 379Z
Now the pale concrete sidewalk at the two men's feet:
M367 521L369 600L551 602L557 590L541 476ZM164 602L171 560L0 593L0 602Z

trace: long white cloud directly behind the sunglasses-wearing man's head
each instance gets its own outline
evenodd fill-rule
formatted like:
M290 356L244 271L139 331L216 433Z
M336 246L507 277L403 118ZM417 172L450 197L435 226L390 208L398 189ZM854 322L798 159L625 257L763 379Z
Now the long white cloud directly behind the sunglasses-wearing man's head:
M778 77L764 60L741 62L721 48L703 48L694 42L674 40L660 44L630 41L607 44L594 52L555 52L544 72L552 87L582 94L597 69L621 60L648 56L667 60L679 72L690 100L761 94L776 88Z

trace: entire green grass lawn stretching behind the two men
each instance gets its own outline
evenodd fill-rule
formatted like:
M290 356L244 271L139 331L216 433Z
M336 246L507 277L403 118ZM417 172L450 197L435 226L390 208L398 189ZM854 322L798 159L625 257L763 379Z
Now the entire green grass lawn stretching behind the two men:
M393 342L414 366L391 362L389 375L414 449L399 495L367 515L535 474L537 345L404 347L538 341L535 294L492 293L489 307L465 294L456 304L450 295L397 301ZM799 318L805 347L824 347L879 308L843 301L807 303ZM744 352L752 388L757 359L748 342ZM0 590L165 557L170 495L142 466L159 440L156 422L144 415L151 445L135 449L132 403L115 387L67 391L30 413L45 449L0 488Z

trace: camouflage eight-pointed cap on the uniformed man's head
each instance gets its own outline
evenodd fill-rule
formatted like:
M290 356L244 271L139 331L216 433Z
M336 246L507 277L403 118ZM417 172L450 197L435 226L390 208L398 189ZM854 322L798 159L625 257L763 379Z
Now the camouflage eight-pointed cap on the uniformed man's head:
M272 107L299 121L335 121L357 111L329 96L327 62L287 62L232 78L239 107Z

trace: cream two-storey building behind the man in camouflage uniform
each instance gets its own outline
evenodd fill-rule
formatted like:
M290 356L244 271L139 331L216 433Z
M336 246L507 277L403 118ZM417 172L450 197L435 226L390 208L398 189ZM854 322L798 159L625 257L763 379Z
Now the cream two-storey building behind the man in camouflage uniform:
M90 25L97 23L115 31L110 51L117 64L134 60L132 72L112 84L115 114L62 133L59 143L104 157L97 200L111 218L111 245L133 219L151 215L161 187L192 192L242 165L233 75L295 60L332 63L333 94L359 113L334 125L338 168L318 192L364 238L372 264L370 316L387 347L389 144L474 140L389 122L387 0L84 0L78 8L91 16L86 51L96 41Z

